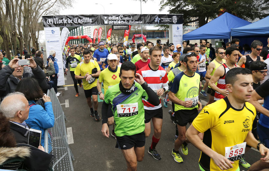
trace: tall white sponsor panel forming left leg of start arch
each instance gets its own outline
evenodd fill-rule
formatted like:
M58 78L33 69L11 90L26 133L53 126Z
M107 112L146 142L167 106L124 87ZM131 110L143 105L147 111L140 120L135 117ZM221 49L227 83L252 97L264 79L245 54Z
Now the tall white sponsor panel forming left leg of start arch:
M62 44L60 36L60 27L47 27L45 30L45 39L46 39L46 51L47 58L49 57L49 52L55 50L55 62L59 66L58 77L58 86L65 85L64 72L63 72L63 63L62 63Z

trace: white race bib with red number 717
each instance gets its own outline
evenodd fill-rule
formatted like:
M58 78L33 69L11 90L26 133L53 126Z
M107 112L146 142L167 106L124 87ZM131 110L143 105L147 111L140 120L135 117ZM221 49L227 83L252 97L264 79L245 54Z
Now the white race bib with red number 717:
M117 105L118 117L128 117L138 114L138 103L118 104Z

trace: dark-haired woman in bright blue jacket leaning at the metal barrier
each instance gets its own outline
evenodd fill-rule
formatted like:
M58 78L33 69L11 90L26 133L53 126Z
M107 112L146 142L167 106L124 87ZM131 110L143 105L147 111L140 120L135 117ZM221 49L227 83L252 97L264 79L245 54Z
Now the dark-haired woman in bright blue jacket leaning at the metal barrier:
M41 145L44 146L45 129L54 126L54 114L50 97L43 94L35 78L22 79L16 91L22 92L27 98L30 110L29 117L25 122L30 125L31 128L42 131ZM41 105L36 104L36 101L40 98L43 98L45 109Z

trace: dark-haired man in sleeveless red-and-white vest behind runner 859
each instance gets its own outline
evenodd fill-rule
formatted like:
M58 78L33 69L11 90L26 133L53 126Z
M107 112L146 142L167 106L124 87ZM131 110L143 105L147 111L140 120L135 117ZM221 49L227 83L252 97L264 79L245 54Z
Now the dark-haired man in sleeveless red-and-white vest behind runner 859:
M239 65L236 64L239 58L239 53L240 52L237 48L228 47L226 49L226 63L219 66L215 70L213 76L210 78L208 84L213 90L215 90L214 101L228 96L228 90L226 89L225 83L225 75L230 69L239 67ZM216 82L217 85L215 84Z

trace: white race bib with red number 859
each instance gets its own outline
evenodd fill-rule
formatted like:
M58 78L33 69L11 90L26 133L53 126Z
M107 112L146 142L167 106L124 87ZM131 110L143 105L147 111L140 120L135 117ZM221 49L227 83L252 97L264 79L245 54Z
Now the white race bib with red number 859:
M247 142L243 142L241 144L236 144L231 147L225 147L225 155L227 159L230 161L236 161L240 158L243 158L243 155L245 154Z

